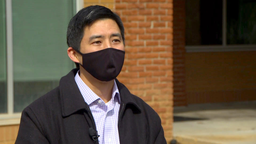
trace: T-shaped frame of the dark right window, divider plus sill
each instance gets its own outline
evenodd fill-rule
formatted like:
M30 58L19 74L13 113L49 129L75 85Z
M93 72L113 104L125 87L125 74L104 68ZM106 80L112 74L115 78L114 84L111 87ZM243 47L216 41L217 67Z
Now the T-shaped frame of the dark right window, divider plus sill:
M186 52L256 51L256 45L227 45L227 0L222 1L222 45L185 46Z

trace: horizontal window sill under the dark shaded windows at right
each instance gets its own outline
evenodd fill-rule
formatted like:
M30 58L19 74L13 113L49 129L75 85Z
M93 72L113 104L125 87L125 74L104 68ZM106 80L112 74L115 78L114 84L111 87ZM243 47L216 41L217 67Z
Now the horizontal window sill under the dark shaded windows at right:
M256 51L256 45L209 45L185 46L186 52L214 52L214 51Z

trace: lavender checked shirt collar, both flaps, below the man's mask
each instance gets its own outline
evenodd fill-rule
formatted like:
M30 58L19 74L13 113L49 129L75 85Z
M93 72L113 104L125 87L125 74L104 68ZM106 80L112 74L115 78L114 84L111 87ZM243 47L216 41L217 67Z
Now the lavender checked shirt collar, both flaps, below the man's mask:
M77 83L77 86L83 96L83 99L85 100L85 102L90 105L91 103L93 103L94 101L96 101L97 99L101 99L97 94L95 94L80 78L79 76L79 72L80 70L77 71L77 74L75 75L75 82ZM114 80L114 85L113 85L113 89L112 89L112 97L111 99L114 101L114 98L118 97L118 102L120 103L120 95L119 95L119 91L117 88L117 84Z

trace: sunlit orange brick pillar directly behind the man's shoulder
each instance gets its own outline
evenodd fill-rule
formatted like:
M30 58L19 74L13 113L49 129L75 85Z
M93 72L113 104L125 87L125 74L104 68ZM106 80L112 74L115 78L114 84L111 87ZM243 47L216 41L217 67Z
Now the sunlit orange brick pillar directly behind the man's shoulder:
M167 142L173 123L173 2L115 0L125 26L125 62L118 76L159 114Z

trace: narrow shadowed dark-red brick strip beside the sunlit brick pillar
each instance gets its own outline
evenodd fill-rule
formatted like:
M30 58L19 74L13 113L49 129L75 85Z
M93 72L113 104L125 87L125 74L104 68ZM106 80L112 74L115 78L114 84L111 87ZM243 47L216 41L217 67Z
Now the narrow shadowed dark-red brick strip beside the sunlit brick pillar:
M187 105L185 85L185 0L173 0L173 102Z

